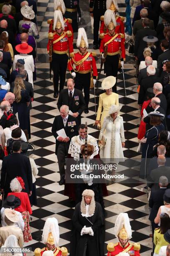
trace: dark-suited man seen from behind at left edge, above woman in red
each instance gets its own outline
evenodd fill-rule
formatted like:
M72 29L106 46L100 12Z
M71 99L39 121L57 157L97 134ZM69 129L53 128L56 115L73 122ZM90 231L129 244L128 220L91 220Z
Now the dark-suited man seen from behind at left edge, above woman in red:
M30 159L20 154L21 142L13 142L13 154L5 156L2 161L0 188L4 191L5 197L10 192L10 182L17 176L21 177L25 183L25 190L29 196L32 194L32 170Z

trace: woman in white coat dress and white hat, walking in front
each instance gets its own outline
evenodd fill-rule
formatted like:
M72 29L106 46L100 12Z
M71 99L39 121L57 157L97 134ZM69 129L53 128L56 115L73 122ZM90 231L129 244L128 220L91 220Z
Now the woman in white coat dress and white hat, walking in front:
M109 115L105 117L102 129L99 135L99 144L102 144L100 158L104 163L119 163L124 161L123 147L125 146L125 135L123 127L123 118L117 115L120 107L112 105ZM105 132L105 133L104 133ZM103 145L105 141L105 145Z

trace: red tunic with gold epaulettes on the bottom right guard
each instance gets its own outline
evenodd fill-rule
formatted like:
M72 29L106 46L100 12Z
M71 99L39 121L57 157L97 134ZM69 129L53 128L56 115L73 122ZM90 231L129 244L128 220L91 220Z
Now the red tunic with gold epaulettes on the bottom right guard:
M140 244L139 243L136 243L136 244L138 244L138 247L140 248ZM108 246L109 245L110 244L108 244ZM140 256L140 251L134 250L133 243L127 243L125 245L125 247L122 247L122 245L120 243L115 243L112 245L113 246L111 246L111 247L114 251L108 251L107 256L117 256L121 252L127 252L127 253L129 253L130 256ZM107 246L107 249L108 249L108 246Z

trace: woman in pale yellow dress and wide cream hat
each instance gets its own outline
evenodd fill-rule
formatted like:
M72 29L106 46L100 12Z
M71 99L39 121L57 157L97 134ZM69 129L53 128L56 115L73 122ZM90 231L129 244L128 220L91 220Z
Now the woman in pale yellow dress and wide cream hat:
M97 117L95 124L100 123L102 128L104 118L108 115L111 105L119 105L119 95L115 92L112 92L112 87L116 83L116 78L113 76L106 77L102 81L102 89L106 92L100 94L99 96L99 106L97 110ZM102 110L103 108L103 110Z

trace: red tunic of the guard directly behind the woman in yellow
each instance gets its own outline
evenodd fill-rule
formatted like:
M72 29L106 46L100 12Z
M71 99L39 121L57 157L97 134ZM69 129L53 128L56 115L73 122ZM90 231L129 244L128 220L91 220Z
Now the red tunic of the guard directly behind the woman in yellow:
M125 44L120 34L115 34L114 36L111 36L109 33L107 33L101 40L100 52L103 53L105 51L105 44L113 37L115 37L115 39L113 39L109 44L107 44L107 55L116 55L121 50L121 58L125 59Z

